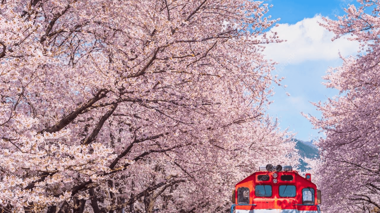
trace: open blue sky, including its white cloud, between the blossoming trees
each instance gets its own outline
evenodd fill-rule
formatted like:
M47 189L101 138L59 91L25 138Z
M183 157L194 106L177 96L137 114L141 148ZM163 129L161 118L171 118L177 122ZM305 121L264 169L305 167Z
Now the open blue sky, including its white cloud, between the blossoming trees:
M270 44L264 54L268 59L279 62L274 74L285 77L282 81L286 88L273 85L275 95L271 100L268 113L278 117L282 129L296 132L296 138L310 141L323 136L313 129L301 112L320 117L320 112L310 102L325 102L328 97L338 95L335 89L325 88L321 84L323 75L329 67L342 64L339 52L343 56L356 55L358 43L337 39L325 28L320 27L321 16L336 19L344 15L343 8L348 4L358 4L354 0L268 0L273 5L269 9L272 18L281 20L277 31L286 42ZM286 92L290 93L287 96Z

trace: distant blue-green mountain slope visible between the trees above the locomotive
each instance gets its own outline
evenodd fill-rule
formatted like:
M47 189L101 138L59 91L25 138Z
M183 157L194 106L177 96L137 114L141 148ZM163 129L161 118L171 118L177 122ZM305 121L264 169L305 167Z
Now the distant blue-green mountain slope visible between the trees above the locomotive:
M298 149L298 154L301 155L302 158L319 158L318 149L312 144L312 141L305 142L298 139L293 139L293 141L296 141L295 148ZM302 172L309 169L307 163L303 160L300 159L300 163L299 169L301 169Z

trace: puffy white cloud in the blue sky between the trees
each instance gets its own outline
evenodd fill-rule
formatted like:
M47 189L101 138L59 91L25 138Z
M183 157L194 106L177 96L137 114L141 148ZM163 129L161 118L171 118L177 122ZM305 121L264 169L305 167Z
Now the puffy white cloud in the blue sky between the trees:
M266 58L282 64L299 64L304 61L336 60L339 59L339 52L343 56L357 54L358 42L344 38L332 42L334 34L318 22L323 22L321 16L306 18L294 25L286 23L273 27L271 30L287 41L268 44L264 50Z

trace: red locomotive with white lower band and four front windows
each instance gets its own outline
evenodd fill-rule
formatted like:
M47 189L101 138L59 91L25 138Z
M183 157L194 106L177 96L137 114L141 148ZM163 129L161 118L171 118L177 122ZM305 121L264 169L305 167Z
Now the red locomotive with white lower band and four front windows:
M321 192L291 166L260 166L235 186L231 213L320 213Z

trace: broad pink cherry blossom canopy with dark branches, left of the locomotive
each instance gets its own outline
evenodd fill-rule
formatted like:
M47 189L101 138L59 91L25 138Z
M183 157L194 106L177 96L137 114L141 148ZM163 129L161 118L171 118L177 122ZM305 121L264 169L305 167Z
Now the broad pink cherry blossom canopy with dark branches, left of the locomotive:
M261 54L280 41L267 11L2 0L1 211L225 211L258 164L296 162L265 113L281 80Z

